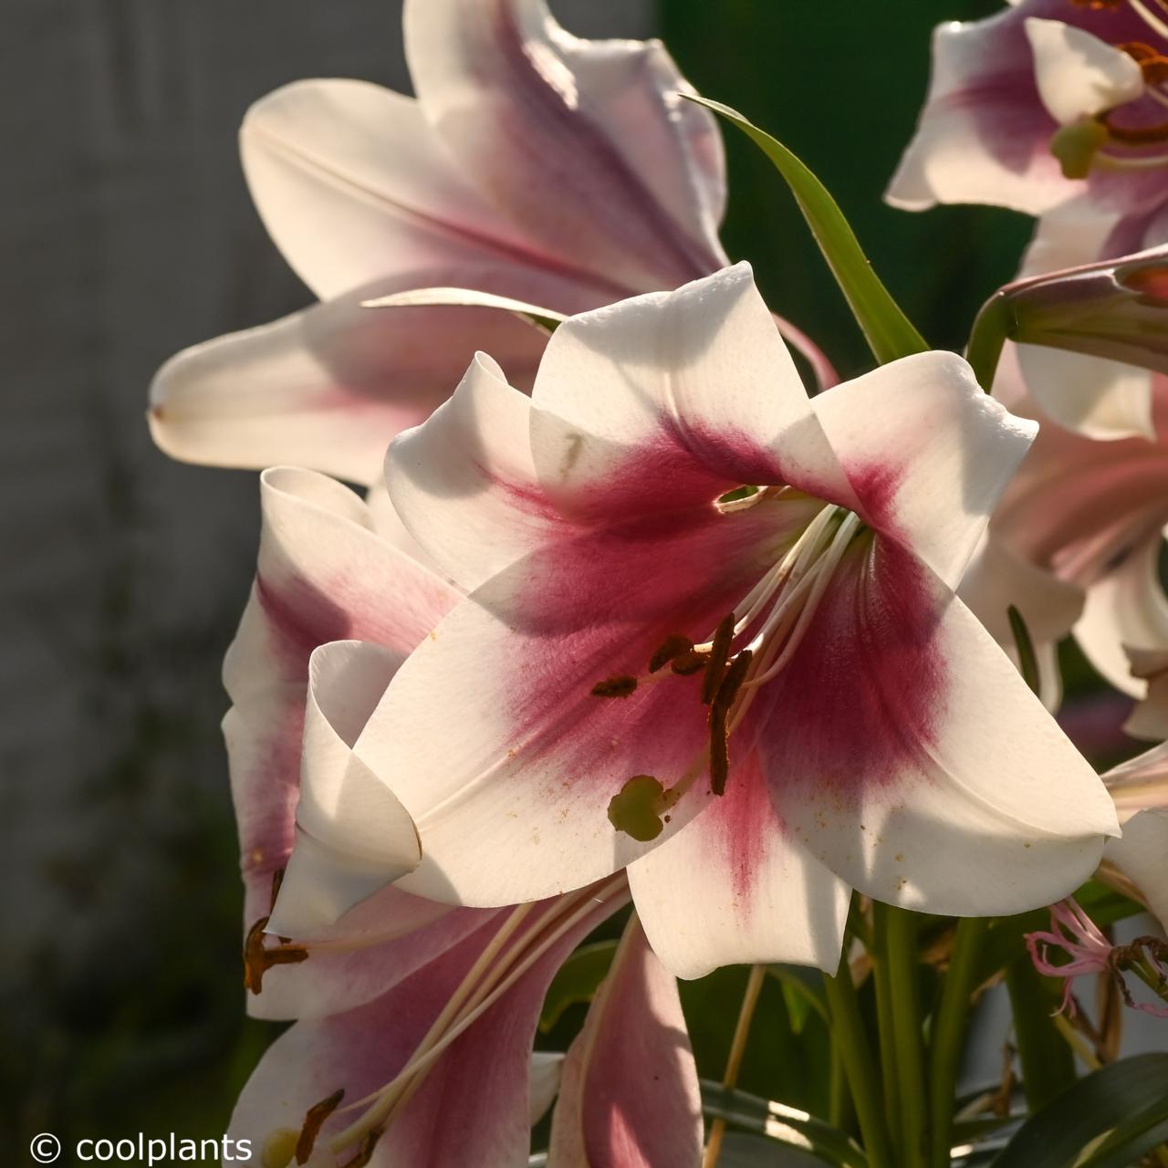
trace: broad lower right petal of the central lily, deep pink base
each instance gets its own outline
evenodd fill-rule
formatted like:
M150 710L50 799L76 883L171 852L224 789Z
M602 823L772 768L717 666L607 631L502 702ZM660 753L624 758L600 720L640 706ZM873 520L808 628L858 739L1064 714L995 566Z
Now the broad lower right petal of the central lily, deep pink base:
M877 899L1020 912L1075 889L1115 833L1103 785L986 630L880 537L844 556L764 701L779 813Z

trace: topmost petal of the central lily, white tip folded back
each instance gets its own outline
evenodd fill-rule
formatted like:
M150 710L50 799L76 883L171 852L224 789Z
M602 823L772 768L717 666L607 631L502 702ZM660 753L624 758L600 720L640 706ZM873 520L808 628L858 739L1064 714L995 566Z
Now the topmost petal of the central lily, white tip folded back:
M854 502L749 264L562 325L533 401L540 478L582 521L742 484Z

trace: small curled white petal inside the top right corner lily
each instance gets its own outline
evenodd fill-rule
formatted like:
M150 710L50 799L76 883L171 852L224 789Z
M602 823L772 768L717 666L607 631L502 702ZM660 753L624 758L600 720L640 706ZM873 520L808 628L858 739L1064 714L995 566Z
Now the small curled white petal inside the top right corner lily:
M1026 22L1034 50L1038 95L1050 116L1066 126L1143 92L1143 74L1122 49L1061 20Z

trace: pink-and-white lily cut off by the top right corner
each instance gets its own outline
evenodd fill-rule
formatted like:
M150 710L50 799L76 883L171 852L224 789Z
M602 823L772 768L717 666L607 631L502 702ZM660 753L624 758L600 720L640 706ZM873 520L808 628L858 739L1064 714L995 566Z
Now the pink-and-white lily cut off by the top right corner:
M929 97L887 197L1031 215L1080 200L1114 217L1100 256L1136 251L1168 236L1166 106L1161 0L1020 0L950 21L933 34Z

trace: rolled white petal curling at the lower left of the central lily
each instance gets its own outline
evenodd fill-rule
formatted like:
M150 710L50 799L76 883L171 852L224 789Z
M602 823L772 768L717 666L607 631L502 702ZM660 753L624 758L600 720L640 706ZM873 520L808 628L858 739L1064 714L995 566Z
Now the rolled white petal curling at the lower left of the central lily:
M269 932L311 940L422 860L405 808L353 753L401 660L360 641L312 654L297 841Z

